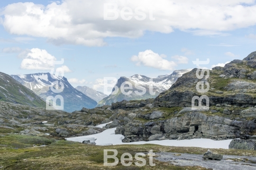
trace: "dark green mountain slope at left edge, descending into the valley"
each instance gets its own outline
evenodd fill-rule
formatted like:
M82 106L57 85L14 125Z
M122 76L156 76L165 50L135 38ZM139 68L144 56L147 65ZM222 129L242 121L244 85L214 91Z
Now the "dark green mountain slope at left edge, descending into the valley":
M46 108L46 102L11 76L0 72L0 101Z

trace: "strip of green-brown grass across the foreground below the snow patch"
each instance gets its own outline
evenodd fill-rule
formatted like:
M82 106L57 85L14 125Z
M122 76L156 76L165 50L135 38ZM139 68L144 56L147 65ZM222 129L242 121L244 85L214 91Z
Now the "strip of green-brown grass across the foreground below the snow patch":
M117 157L119 159L123 153L131 153L134 162L134 155L136 153L148 153L151 149L153 149L154 153L175 152L202 154L207 151L207 149L204 148L160 146L155 144L95 146L60 140L46 147L22 147L14 149L12 143L28 145L25 139L30 141L33 137L21 135L0 137L0 144L8 145L8 147L0 146L0 166L3 166L4 170L206 170L201 167L179 167L169 164L168 162L156 160L154 160L156 166L150 167L148 165L147 156L145 157L147 161L145 167L137 167L134 166L134 164L130 167L124 167L120 162L116 167L103 166L104 149L117 149ZM50 140L45 138L40 139L44 139L44 141ZM256 156L256 151L251 150L211 150L226 155ZM111 160L109 160L109 162L110 161Z

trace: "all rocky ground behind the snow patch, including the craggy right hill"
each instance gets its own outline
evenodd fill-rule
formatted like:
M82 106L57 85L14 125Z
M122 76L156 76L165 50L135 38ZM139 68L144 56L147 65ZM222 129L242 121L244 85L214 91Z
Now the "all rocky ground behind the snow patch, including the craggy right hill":
M250 140L254 145L254 60L256 52L244 60L230 62L224 68L210 70L210 77L205 80L210 84L210 91L206 93L210 98L210 110L191 109L192 96L200 95L196 92L199 80L195 76L196 69L193 69L155 99L123 100L72 113L1 102L1 126L6 124L5 127L14 129L18 126L18 130L22 130L19 133L24 134L31 133L28 130L36 130L32 125L44 125L41 122L48 121L48 125L43 127L51 136L62 138L100 133L104 128L116 127L115 133L125 136L123 142L240 138ZM242 76L244 73L245 76ZM113 122L103 129L95 127L110 121ZM231 148L238 149L239 145L235 143Z

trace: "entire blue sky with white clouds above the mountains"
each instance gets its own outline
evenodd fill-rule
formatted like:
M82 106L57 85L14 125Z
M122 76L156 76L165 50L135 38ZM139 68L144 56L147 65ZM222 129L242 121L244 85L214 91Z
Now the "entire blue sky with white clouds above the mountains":
M62 68L103 91L104 77L224 66L256 51L255 14L256 0L0 1L0 72Z

